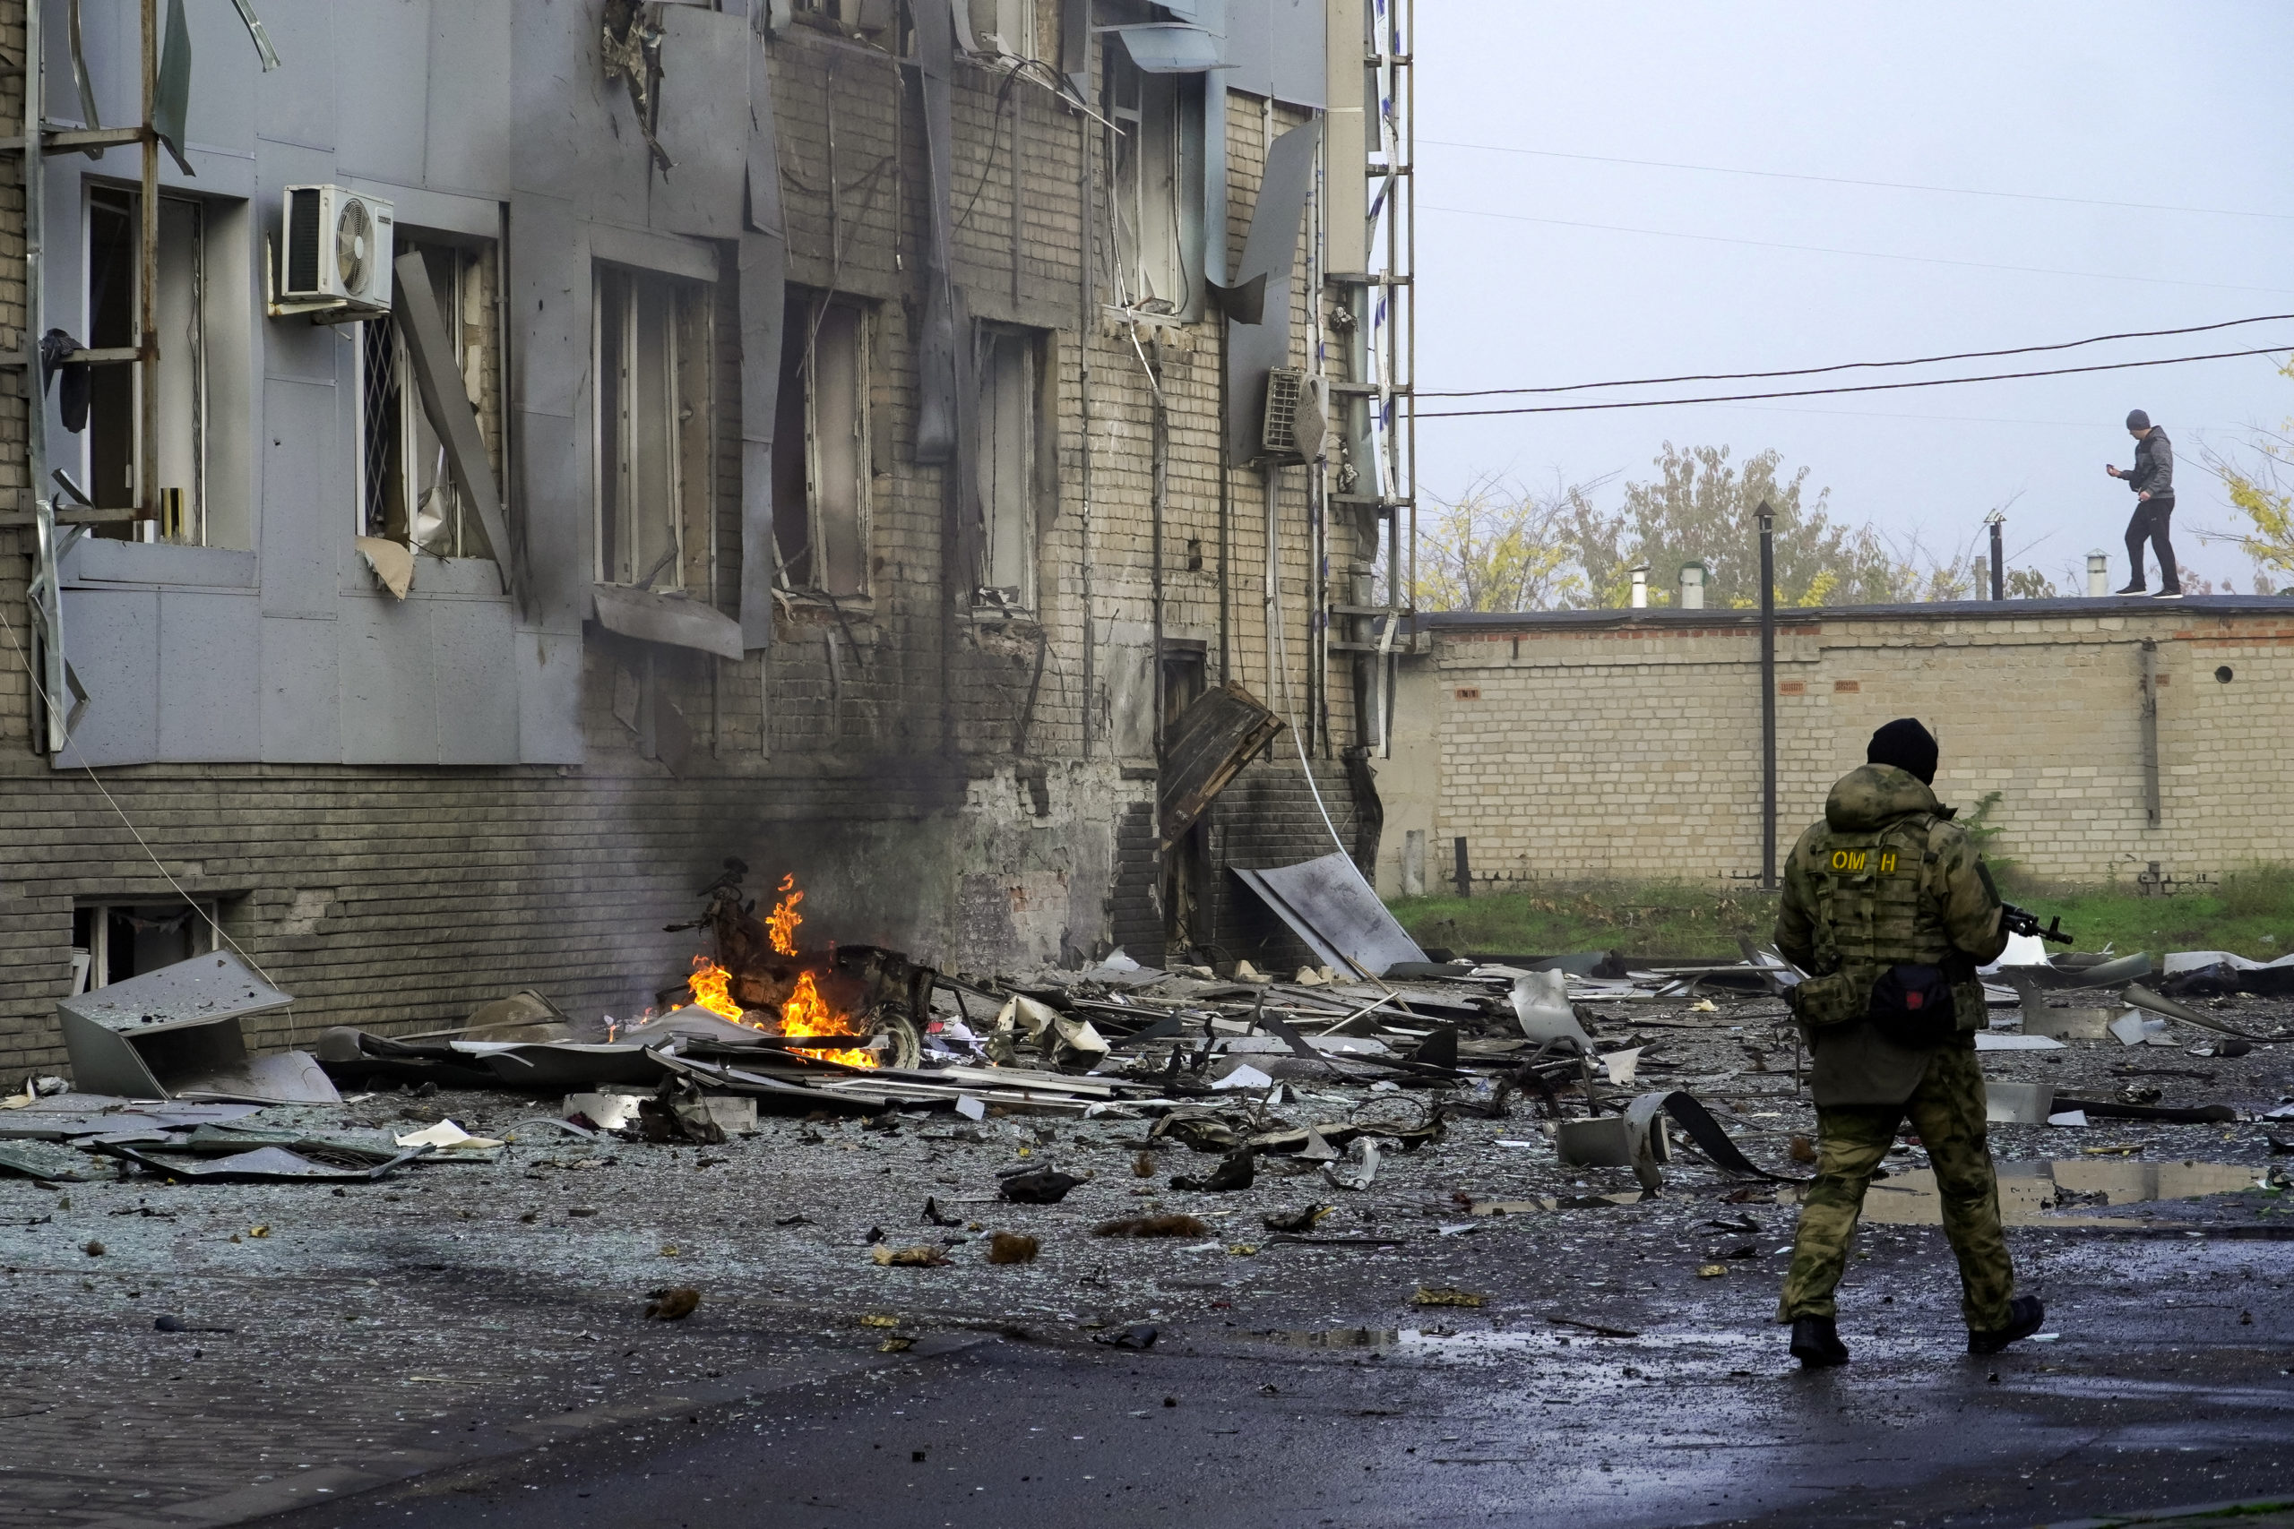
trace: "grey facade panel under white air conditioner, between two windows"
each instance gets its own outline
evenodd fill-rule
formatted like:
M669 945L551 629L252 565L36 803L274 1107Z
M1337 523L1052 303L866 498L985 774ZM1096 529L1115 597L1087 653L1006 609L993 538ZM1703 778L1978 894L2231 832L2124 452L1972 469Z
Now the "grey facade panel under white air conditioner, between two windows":
M287 328L287 326L275 326ZM264 381L262 569L266 617L335 614L337 557L351 541L351 495L335 387Z

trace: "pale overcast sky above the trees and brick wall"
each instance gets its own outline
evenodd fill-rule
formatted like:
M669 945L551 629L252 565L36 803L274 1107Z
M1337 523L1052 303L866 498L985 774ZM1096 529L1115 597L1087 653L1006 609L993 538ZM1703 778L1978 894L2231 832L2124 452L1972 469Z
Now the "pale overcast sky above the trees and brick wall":
M2285 0L1418 0L1415 57L1420 390L1895 360L2294 312ZM1707 170L1601 163L1617 158ZM1748 170L1769 174L1730 174ZM2273 342L2294 346L2294 321L2028 364ZM2179 559L2250 589L2237 550L2195 536L2232 520L2198 449L2294 415L2294 381L2264 358L1425 420L1420 488L1620 475L1597 495L1615 504L1665 440L1773 447L1787 470L1810 468L1810 488L1831 486L1837 518L1936 550L1973 546L1984 513L2021 495L2012 564L2062 585L2106 548L2117 587L2133 495L2101 465L2133 461L2129 408L2177 445Z

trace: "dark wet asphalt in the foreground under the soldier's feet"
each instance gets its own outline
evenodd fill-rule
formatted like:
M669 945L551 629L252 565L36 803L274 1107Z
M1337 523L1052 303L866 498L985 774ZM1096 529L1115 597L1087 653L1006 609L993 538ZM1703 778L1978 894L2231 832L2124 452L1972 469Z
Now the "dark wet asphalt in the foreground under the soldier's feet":
M2294 1497L2285 1242L2016 1242L2060 1336L1989 1359L1964 1352L1950 1256L1918 1229L1847 1291L1842 1371L1785 1359L1766 1281L1652 1300L1631 1339L1523 1311L1402 1318L1415 1334L1188 1323L1147 1352L938 1332L264 1522L1893 1529Z

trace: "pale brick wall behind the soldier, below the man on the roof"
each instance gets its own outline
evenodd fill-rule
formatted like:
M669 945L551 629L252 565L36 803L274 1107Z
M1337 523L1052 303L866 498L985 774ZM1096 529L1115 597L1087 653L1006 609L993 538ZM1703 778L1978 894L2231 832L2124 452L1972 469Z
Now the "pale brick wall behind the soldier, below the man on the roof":
M1475 878L1727 880L1762 869L1759 637L1739 612L1436 617L1409 660L1379 880L1429 834ZM2147 821L2140 651L2156 644L2161 821ZM2227 679L2218 679L2227 672ZM2294 603L2046 601L1782 612L1778 855L1890 718L1943 745L1936 793L1998 791L1996 853L2039 878L2221 876L2294 862Z

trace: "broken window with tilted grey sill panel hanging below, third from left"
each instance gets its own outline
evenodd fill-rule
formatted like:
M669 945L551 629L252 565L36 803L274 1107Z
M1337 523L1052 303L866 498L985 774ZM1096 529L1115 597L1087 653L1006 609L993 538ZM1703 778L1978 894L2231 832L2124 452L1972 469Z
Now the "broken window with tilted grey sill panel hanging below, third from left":
M596 268L596 578L707 587L709 289Z

